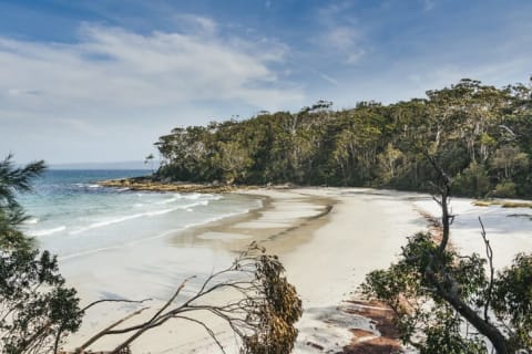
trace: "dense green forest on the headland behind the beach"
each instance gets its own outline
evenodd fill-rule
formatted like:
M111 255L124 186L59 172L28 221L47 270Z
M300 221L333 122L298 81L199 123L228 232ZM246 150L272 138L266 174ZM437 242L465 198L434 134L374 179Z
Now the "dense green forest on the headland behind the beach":
M389 187L427 190L438 158L454 194L532 197L531 85L502 88L464 79L426 98L361 102L334 111L176 127L157 146L161 178L228 184Z

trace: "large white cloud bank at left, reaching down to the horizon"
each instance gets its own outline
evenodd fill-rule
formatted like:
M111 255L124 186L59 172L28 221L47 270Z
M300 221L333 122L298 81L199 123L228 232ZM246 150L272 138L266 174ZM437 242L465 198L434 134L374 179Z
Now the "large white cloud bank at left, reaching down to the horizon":
M190 31L149 34L84 24L75 43L0 37L0 154L135 159L177 125L303 105L283 80L287 45L186 21Z

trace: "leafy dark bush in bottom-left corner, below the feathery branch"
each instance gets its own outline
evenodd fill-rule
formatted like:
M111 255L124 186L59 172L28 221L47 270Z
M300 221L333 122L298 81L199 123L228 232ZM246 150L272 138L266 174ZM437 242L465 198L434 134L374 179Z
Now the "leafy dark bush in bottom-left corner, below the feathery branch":
M49 353L79 329L82 312L54 257L13 250L0 256L0 317L2 353Z

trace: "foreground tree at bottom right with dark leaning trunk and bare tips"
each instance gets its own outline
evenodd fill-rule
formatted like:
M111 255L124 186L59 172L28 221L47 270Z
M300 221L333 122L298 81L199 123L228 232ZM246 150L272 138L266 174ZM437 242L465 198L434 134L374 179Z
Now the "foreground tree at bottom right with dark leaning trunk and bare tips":
M401 340L421 353L480 353L485 351L484 339L499 354L531 350L532 254L519 254L511 268L495 277L493 252L480 219L485 258L449 250L452 180L428 157L439 176L440 197L434 200L442 212L441 238L411 237L399 262L367 275L362 293L395 311Z

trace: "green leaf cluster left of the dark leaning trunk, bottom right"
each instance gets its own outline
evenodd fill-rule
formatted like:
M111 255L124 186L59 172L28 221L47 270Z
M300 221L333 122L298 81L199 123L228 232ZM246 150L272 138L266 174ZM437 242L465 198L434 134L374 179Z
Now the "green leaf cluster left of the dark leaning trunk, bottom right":
M487 291L485 261L478 256L459 258L452 251L437 254L438 244L431 236L417 233L409 238L399 262L366 277L362 294L387 303L396 312L401 341L420 353L482 353L483 341L477 333L464 334L464 320L438 295L434 281L424 274L438 257L438 281L446 283L446 274L453 274L462 299L475 305Z

